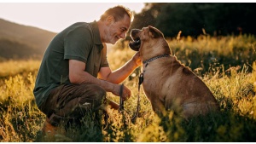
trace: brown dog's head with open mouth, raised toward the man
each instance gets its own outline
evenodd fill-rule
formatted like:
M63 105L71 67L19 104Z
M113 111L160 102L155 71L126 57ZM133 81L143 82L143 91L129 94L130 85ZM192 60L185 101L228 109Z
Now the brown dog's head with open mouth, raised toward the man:
M164 51L163 54L171 54L164 34L153 26L143 27L142 30L132 29L130 34L132 41L129 47L135 51L148 51L147 53L157 53ZM154 49L157 48L157 49Z

